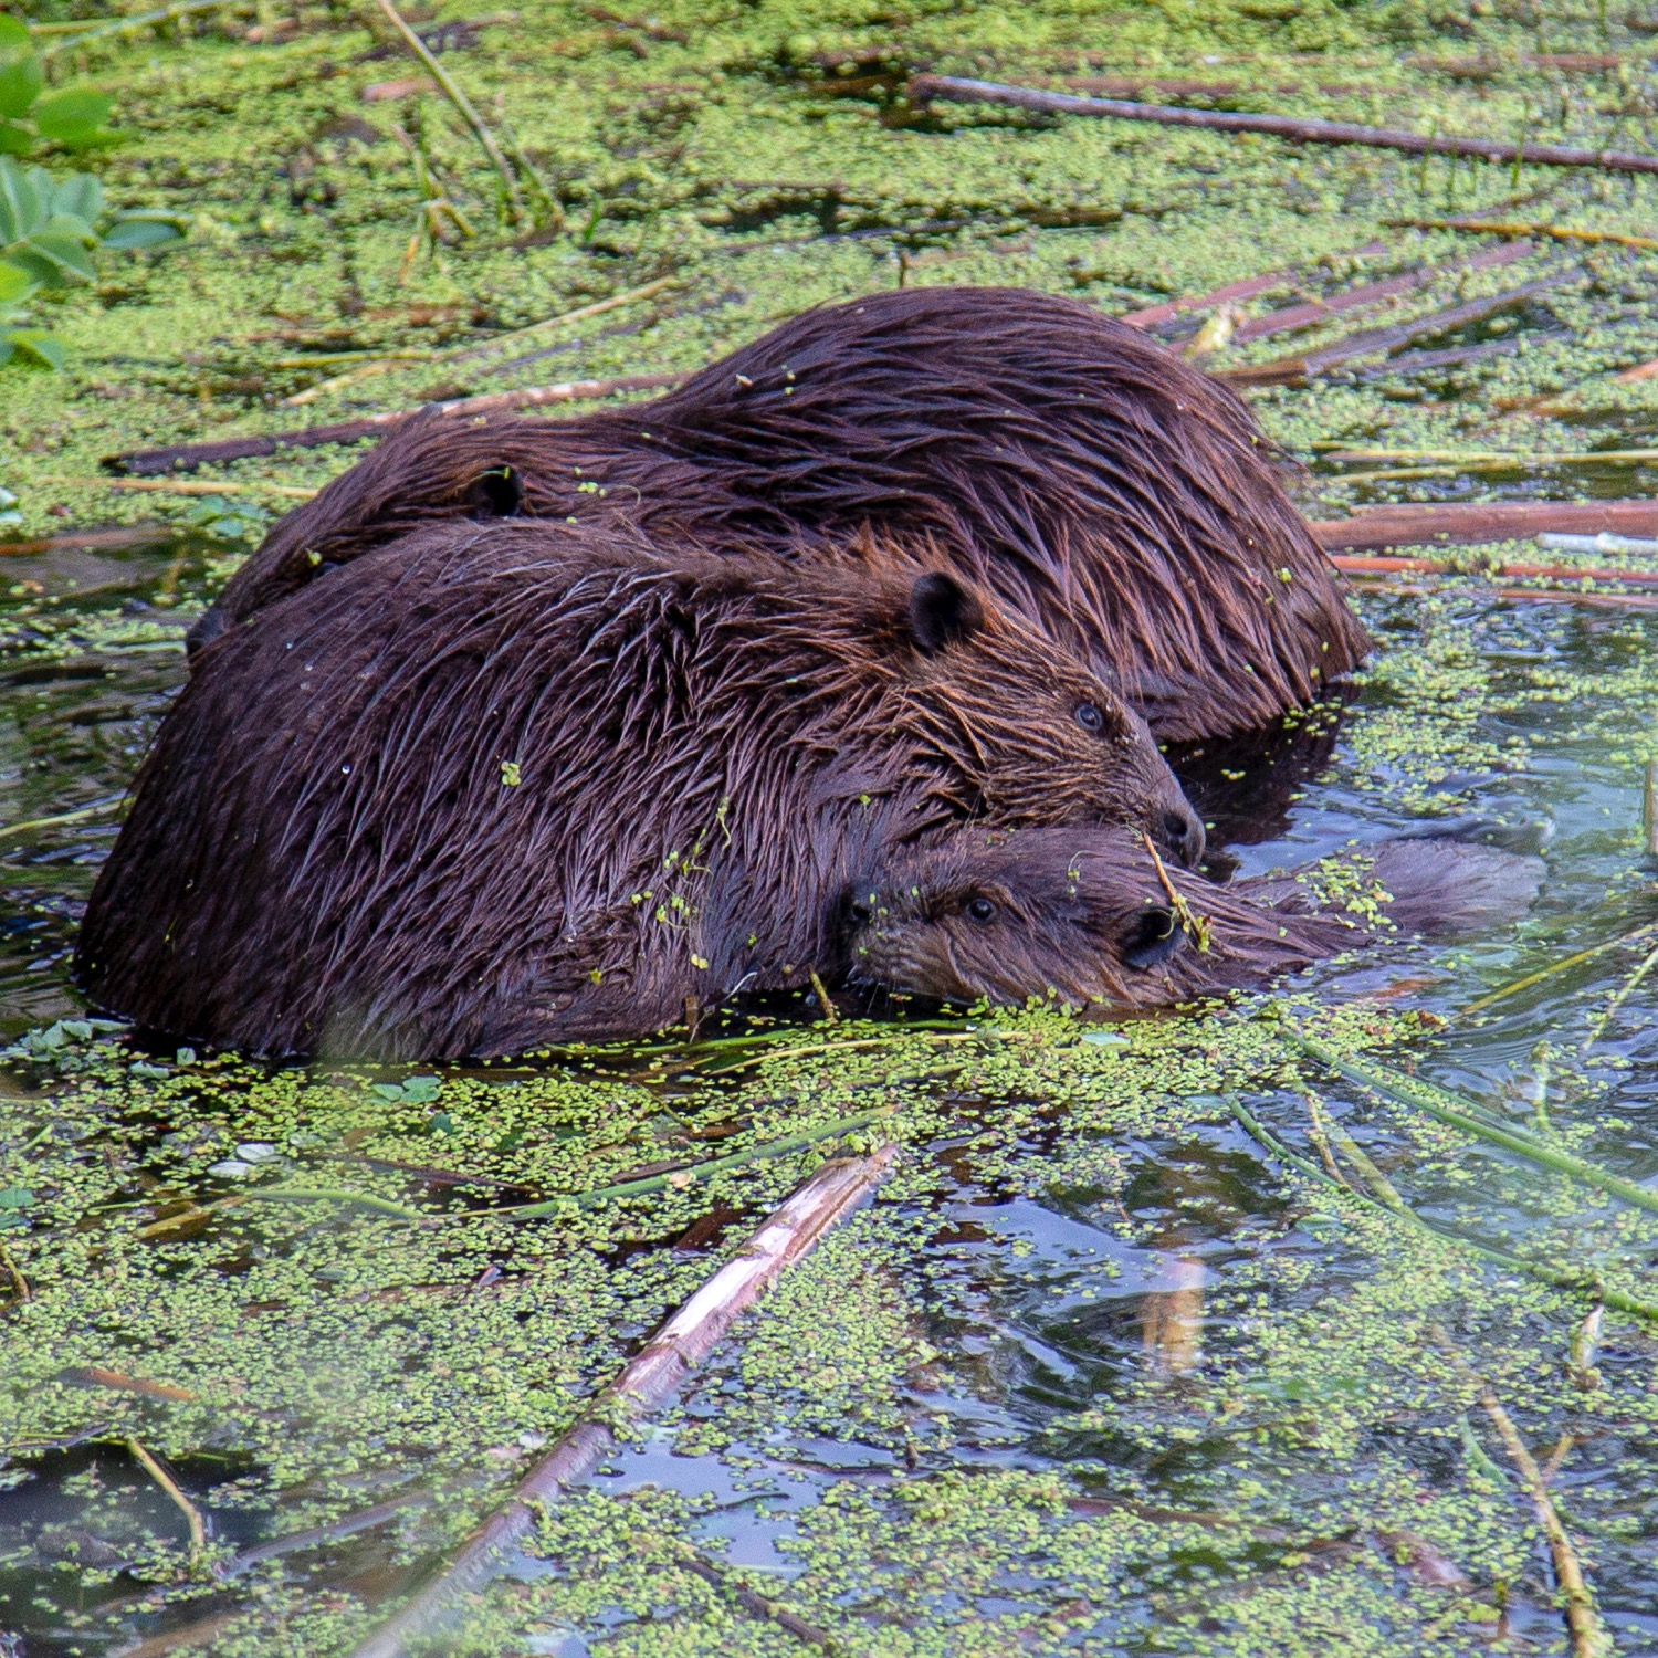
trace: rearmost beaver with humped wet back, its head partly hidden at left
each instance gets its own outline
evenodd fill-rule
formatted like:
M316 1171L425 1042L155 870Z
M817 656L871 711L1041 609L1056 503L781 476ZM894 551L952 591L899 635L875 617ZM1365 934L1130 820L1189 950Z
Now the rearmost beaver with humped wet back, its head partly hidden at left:
M1028 288L807 312L653 403L424 416L297 507L201 647L434 517L618 517L811 555L861 529L950 565L1113 675L1161 739L1255 730L1370 642L1248 410L1144 335Z

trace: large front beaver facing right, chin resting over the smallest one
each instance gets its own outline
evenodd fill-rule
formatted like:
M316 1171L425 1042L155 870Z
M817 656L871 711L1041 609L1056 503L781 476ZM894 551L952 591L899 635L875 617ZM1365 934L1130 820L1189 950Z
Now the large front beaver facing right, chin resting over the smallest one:
M638 1036L807 982L877 847L1113 817L1202 844L1144 723L950 572L438 524L207 652L75 972L260 1054Z

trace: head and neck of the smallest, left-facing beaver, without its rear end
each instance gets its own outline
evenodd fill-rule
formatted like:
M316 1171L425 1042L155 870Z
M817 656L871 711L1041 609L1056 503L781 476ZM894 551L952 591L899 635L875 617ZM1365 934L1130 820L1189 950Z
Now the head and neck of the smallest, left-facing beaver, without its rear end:
M852 887L859 983L943 1001L1134 1011L1265 983L1363 943L1169 870L1124 829L965 831Z

